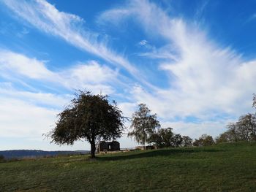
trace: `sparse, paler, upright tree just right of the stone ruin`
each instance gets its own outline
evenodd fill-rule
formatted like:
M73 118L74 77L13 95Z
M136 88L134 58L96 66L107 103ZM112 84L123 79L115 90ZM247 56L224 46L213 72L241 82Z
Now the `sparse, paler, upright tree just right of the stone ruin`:
M151 115L151 110L146 107L146 104L139 104L138 111L132 115L133 130L129 132L128 137L135 137L136 141L145 147L148 138L159 126L157 114Z

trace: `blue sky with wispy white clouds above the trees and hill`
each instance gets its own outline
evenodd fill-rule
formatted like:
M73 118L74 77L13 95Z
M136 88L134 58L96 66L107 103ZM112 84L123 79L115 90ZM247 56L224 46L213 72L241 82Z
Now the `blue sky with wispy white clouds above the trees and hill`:
M255 32L254 0L0 0L0 150L89 150L43 136L76 90L217 137L255 112Z

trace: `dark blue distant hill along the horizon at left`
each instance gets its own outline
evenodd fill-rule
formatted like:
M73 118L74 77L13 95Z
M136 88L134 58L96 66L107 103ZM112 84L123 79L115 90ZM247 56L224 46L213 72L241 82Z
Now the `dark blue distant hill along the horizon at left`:
M56 155L78 155L90 153L89 150L0 150L0 155L4 155L4 158L34 158L44 156L56 156Z

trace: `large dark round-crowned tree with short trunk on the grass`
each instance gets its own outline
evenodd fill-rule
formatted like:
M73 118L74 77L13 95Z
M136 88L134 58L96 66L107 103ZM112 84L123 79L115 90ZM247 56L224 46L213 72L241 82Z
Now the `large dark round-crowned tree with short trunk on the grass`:
M59 145L73 145L78 139L86 140L91 144L91 158L95 158L98 139L121 137L124 128L121 114L116 102L110 103L108 96L79 91L71 104L58 115L59 120L49 136Z

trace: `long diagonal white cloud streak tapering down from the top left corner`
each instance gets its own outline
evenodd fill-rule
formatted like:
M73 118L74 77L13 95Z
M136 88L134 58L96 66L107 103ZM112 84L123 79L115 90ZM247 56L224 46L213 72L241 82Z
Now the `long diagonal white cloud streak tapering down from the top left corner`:
M61 12L45 0L4 0L3 2L19 18L23 18L39 30L61 37L75 47L97 55L112 64L122 66L133 75L138 74L137 69L127 59L114 53L105 43L99 42L98 34L86 31L82 27L83 19L77 15Z

